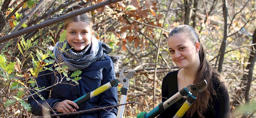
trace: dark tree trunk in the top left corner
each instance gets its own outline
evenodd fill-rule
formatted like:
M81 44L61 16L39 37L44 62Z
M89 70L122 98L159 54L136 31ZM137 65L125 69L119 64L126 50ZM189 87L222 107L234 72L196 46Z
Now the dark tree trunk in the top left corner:
M1 13L0 13L0 32L3 30L4 28L4 25L5 25L5 14L6 14L6 11L9 7L9 4L10 4L11 0L5 0L3 5L2 5L2 8L1 8Z

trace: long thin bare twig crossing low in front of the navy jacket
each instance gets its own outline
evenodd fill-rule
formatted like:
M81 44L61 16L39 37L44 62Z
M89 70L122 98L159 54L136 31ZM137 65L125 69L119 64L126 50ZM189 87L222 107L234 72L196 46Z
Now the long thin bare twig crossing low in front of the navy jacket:
M117 107L117 106L122 106L122 105L126 105L126 104L134 104L134 103L135 103L135 101L134 102L125 103L125 104L118 104L118 105L100 107L100 108L96 108L96 109L88 109L88 110L76 111L76 112L71 112L71 113L52 114L52 115L49 115L49 116L36 117L36 118L53 117L53 116L64 116L64 115L72 115L72 114L82 114L82 113L89 112L89 111L97 111L97 110L101 110L101 109L107 109L107 108L111 108L111 107Z

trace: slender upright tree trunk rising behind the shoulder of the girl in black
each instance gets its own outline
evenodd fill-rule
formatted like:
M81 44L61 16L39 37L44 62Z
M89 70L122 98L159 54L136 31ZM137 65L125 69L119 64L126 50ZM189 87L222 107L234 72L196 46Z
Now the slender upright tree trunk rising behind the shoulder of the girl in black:
M219 58L219 64L218 64L218 72L221 73L222 71L222 65L224 62L224 55L225 55L225 50L226 50L226 45L227 45L227 33L228 33L228 11L227 11L227 0L223 0L223 17L224 17L224 36L223 36L223 41L221 43L221 53L220 53L220 58Z

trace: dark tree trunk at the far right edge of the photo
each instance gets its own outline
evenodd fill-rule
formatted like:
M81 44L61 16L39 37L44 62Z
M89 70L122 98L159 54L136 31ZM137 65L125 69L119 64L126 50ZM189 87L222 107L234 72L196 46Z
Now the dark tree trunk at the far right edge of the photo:
M252 43L256 43L256 29L254 31L253 34L253 39L252 39ZM256 49L256 45L254 45L254 49ZM252 48L253 50L253 48ZM247 80L247 83L245 83L246 88L245 88L245 103L249 103L250 102L250 88L251 88L251 83L252 83L252 75L253 75L253 69L254 69L254 65L255 65L255 61L256 61L256 53L251 51L250 54L250 58L249 58L249 64L246 66L246 70L248 71L248 75L244 74L243 75L243 79ZM242 118L246 118L248 116L247 113L243 113Z

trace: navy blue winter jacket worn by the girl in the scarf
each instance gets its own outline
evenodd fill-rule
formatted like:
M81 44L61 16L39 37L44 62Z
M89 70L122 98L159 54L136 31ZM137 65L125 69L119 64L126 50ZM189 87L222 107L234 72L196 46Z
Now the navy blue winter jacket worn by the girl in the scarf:
M54 104L58 101L63 101L66 99L70 101L74 101L75 99L79 98L85 93L89 91L93 91L96 88L99 88L101 85L104 85L105 83L115 79L115 71L114 71L112 59L109 56L107 56L107 54L104 53L104 55L105 57L103 59L93 62L87 68L81 70L82 73L79 75L79 77L82 77L82 79L78 81L79 85L75 85L75 86L68 85L68 84L55 85L49 90L44 90L40 92L40 94L43 96L43 98L45 98L45 100L42 100L37 94L33 96L36 99L36 101L32 97L29 97L28 103L32 107L31 109L32 114L36 116L43 116L43 112L42 112L43 108L37 103L37 101L40 104L45 104L45 102L47 102L50 105L50 107L53 108ZM68 76L70 75L71 74L69 74ZM57 74L57 77L58 79L56 80L55 75L50 70L40 72L38 77L36 78L37 85L35 87L46 88L48 86L51 86L54 83L57 83L57 81L60 81L60 78L64 77L64 75L60 76L60 74ZM63 81L65 80L66 78L63 79ZM66 83L70 83L70 81L67 81ZM75 83L72 83L72 84L75 84ZM50 90L51 90L51 97L49 98ZM31 91L31 94L32 93L35 93L35 92ZM79 109L77 111L92 109L94 106L105 107L105 106L112 106L117 104L118 104L117 88L113 87L99 94L98 96L95 96L88 102L85 102L84 104L79 105ZM94 108L98 108L98 107L94 107ZM51 114L53 113L51 112ZM91 112L86 112L84 114L77 114L75 116L68 115L64 117L65 118L67 117L115 118L116 114L117 114L117 108L115 107L114 109L109 108L105 110L91 111Z

